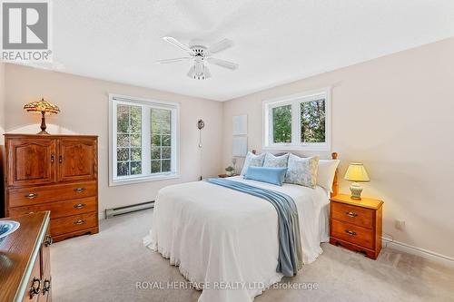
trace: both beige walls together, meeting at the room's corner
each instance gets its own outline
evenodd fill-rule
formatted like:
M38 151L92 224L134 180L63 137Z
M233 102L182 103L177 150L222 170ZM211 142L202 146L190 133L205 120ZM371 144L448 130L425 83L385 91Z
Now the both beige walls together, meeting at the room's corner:
M350 161L366 165L371 182L363 194L385 200L384 236L454 258L452 54L449 39L224 103L0 63L0 132L2 125L7 132L37 132L39 116L22 107L44 97L62 109L48 119L52 132L99 135L102 211L153 200L165 185L197 180L199 118L207 124L204 175L212 176L231 161L232 115L248 114L249 148L261 150L262 100L331 86L332 151L340 154L341 175ZM108 93L181 103L181 179L108 187ZM348 185L342 180L341 190L348 192ZM395 219L405 220L406 229L395 229Z

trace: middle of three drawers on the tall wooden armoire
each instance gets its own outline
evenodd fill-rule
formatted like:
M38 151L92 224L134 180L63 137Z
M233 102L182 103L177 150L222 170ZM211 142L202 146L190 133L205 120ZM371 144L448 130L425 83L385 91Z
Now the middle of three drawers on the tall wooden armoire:
M96 197L87 197L77 200L55 201L40 203L34 206L25 206L8 209L7 216L19 216L31 212L51 211L51 219L93 212L96 210Z

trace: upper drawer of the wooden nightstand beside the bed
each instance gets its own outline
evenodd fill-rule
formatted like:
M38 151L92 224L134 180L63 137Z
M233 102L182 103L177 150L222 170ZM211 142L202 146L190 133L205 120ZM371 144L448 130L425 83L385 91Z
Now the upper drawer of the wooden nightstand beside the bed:
M345 222L350 222L360 227L372 228L375 210L350 206L345 203L332 201L331 217Z

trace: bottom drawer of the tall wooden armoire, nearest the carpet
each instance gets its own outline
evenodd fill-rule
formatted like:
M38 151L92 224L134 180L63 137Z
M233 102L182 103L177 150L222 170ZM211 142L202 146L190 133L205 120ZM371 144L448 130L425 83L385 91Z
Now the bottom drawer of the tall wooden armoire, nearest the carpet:
M51 235L54 237L80 229L95 228L97 219L96 212L51 219Z

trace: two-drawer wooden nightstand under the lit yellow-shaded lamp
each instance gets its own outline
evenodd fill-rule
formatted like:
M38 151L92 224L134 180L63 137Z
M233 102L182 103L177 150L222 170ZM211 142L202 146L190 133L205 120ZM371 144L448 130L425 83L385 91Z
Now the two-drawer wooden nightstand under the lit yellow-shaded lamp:
M339 194L331 199L330 243L376 259L381 250L382 200L352 200Z

